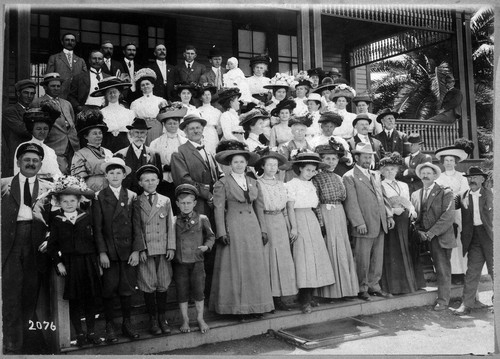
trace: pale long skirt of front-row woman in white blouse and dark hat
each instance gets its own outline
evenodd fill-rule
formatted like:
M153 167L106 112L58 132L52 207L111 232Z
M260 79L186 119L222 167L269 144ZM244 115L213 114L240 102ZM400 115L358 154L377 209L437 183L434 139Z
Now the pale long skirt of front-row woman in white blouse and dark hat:
M335 283L332 263L318 219L311 208L295 208L298 238L293 243L295 276L299 288L319 288Z

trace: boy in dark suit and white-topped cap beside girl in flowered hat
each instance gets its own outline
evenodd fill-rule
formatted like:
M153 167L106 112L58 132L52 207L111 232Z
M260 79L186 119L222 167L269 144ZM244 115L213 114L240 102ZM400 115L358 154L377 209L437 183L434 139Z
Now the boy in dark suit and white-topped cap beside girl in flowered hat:
M130 167L121 158L112 157L101 164L109 187L97 193L94 208L94 236L103 269L102 297L106 319L106 340L115 342L118 337L113 323L113 299L120 297L122 333L136 339L139 333L130 322L131 296L136 285L136 266L139 252L145 249L140 231L140 213L134 212L137 195L122 187L123 179L130 174Z

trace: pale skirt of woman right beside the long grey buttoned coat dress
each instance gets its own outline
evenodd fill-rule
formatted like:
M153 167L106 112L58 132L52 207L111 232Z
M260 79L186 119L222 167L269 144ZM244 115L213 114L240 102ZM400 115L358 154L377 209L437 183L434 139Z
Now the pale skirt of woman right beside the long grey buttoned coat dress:
M273 297L297 294L295 266L283 213L265 214L269 242L264 247Z

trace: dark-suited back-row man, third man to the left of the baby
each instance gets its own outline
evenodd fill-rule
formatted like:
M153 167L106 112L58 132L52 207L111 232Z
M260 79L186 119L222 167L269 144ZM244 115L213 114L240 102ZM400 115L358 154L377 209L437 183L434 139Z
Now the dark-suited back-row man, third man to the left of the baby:
M173 100L174 94L174 67L167 63L167 48L163 44L155 47L155 61L149 65L156 74L153 95Z

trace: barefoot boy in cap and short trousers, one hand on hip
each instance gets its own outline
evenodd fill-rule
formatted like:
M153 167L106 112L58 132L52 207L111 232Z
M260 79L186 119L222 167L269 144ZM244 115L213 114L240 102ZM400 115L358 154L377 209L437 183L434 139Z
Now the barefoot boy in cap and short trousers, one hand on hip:
M180 214L175 220L177 250L174 261L174 279L177 300L182 314L181 332L189 333L188 300L191 296L196 305L200 331L210 328L203 320L205 289L204 253L212 249L215 241L208 217L194 211L198 190L190 184L181 184L175 189L175 198Z

